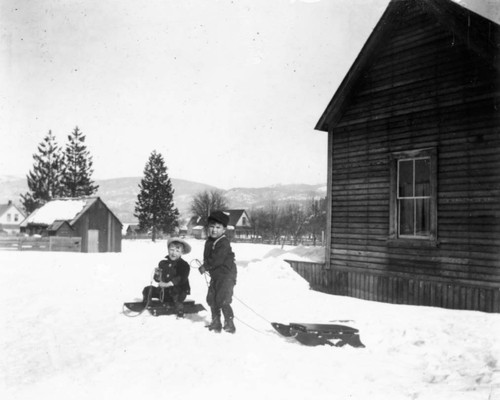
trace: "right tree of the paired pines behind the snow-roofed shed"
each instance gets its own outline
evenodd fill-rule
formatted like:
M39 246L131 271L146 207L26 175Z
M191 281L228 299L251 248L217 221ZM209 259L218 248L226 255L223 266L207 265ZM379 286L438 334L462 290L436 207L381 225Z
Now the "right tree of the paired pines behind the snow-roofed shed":
M91 196L97 192L92 178L92 157L85 145L85 135L75 127L68 135L64 151L65 169L63 184L68 197Z

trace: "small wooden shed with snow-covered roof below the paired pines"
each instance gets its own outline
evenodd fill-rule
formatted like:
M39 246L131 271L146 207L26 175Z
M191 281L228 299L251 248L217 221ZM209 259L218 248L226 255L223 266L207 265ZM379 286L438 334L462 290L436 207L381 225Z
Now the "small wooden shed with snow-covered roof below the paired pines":
M82 252L120 252L122 224L99 197L49 201L21 223L29 235L76 236Z

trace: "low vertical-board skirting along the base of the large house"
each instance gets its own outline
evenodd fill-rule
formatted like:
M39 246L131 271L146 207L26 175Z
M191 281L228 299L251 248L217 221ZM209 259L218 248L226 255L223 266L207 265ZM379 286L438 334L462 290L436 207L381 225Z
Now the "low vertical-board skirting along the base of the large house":
M327 268L324 263L285 260L311 289L358 299L460 310L500 312L500 287L445 279Z

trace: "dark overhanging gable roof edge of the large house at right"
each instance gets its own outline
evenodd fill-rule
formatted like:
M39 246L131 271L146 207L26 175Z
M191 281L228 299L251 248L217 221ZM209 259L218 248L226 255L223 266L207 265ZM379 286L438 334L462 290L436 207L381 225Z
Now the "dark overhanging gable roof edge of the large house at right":
M367 68L372 57L387 42L391 31L401 21L410 4L419 4L433 15L454 37L467 43L470 50L500 69L500 25L451 0L391 0L370 37L344 77L315 129L328 132L341 118L350 92Z

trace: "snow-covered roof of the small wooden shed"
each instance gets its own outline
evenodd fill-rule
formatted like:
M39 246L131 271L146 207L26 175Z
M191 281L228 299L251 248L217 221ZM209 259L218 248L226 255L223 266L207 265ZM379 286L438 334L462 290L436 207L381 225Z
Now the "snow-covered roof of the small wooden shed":
M68 221L70 225L74 225L78 219L97 201L102 202L99 197L62 198L51 200L30 214L21 223L21 227L26 227L29 224L48 226L54 223L54 221ZM102 203L104 204L104 202ZM111 210L109 210L109 212L114 216ZM118 220L118 218L116 219Z

